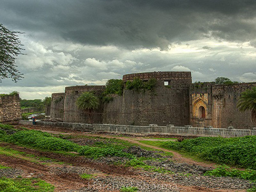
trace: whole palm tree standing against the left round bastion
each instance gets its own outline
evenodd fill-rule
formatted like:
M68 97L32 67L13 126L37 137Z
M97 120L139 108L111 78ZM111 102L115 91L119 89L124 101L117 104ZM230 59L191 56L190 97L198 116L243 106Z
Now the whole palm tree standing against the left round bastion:
M83 92L76 100L76 105L79 109L89 112L90 123L92 123L92 110L97 109L100 105L100 100L92 92Z

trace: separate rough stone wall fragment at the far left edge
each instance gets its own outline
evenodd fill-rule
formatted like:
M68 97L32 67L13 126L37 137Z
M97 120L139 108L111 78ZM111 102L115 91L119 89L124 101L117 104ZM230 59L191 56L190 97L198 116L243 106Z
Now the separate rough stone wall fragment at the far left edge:
M21 119L19 95L0 96L0 122L17 121Z

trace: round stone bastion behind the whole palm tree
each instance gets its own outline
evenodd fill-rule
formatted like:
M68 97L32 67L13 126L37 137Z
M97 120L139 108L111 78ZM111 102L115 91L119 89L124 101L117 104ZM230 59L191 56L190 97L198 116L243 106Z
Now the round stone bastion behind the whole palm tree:
M76 100L82 92L93 92L100 97L104 92L105 85L82 85L65 87L64 100L64 122L70 123L102 123L102 103L98 109L93 110L90 114L88 111L82 111L76 106ZM91 123L92 123L91 122Z

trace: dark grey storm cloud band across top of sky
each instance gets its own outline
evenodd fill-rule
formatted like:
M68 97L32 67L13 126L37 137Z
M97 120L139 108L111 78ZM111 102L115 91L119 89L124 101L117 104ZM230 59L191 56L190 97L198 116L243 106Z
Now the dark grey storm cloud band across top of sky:
M203 37L255 44L255 0L2 0L0 7L12 28L83 44L166 49Z

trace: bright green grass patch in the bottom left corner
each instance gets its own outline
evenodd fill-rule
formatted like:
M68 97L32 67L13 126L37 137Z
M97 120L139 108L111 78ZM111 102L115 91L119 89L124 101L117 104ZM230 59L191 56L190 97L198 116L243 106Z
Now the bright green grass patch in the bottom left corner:
M40 179L0 178L0 192L53 192L54 186Z

